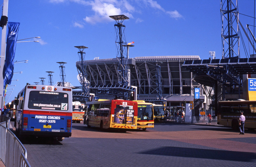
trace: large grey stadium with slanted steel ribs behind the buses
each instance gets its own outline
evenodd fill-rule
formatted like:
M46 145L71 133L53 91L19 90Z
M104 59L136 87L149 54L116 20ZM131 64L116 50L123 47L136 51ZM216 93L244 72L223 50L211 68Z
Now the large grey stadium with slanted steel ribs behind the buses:
M170 106L184 106L194 100L194 87L200 87L200 100L195 109L206 108L209 104L206 100L206 88L193 80L195 77L181 65L185 60L200 60L198 55L188 56L148 56L128 58L129 86L137 87L137 100L157 97L156 65L161 66L162 97ZM117 58L95 59L83 61L87 73L87 81L90 83L90 93L103 99L113 99L115 96L98 94L96 85L119 85ZM76 62L79 70L81 61ZM204 90L204 91L203 91Z

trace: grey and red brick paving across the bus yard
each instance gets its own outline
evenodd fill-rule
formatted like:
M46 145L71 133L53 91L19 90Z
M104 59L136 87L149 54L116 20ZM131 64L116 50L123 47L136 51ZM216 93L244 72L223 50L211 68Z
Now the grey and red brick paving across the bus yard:
M256 131L157 123L119 133L72 124L62 142L23 141L31 166L256 166Z

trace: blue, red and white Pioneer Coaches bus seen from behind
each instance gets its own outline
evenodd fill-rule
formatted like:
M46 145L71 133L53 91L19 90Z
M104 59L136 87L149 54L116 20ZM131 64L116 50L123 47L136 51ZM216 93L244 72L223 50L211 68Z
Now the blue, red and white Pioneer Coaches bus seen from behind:
M71 136L72 90L49 85L26 85L17 96L15 128L21 137Z

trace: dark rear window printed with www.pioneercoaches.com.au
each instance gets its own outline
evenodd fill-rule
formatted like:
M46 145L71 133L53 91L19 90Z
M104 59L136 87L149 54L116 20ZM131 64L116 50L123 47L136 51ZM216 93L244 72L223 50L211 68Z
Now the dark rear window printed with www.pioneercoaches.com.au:
M29 92L28 108L43 110L68 110L68 94L60 92Z

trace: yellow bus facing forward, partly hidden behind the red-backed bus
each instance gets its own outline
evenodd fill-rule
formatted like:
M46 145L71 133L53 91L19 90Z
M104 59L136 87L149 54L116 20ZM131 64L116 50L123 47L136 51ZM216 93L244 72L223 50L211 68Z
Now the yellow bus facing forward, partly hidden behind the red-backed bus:
M144 100L136 100L134 102L138 103L137 128L142 130L154 128L153 104L146 103Z

